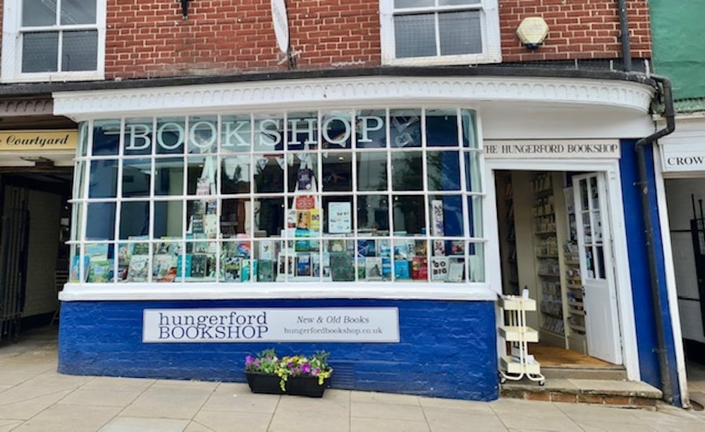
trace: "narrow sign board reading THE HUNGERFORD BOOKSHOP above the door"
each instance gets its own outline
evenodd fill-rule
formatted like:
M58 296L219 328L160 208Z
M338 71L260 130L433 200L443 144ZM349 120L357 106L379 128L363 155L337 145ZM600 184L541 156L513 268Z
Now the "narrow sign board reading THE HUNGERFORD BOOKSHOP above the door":
M617 139L485 141L486 159L619 158Z

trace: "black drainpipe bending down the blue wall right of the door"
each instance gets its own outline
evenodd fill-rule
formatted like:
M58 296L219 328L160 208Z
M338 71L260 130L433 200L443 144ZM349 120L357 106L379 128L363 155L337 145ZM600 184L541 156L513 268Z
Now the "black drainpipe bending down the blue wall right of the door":
M649 281L651 284L651 300L654 303L654 319L656 321L656 352L658 353L658 367L661 372L661 390L663 400L673 404L673 389L670 383L670 368L668 367L668 352L666 351L666 329L663 328L663 315L661 315L661 291L658 288L658 272L656 270L656 247L654 246L654 228L651 225L651 205L649 204L649 178L646 174L645 146L654 143L662 136L675 130L675 113L673 110L673 94L671 93L670 80L666 77L651 75L651 79L661 83L661 96L663 96L663 117L666 117L666 127L637 141L637 163L639 164L639 182L637 186L642 189L642 218L644 220L644 235L646 237L646 254L649 259Z

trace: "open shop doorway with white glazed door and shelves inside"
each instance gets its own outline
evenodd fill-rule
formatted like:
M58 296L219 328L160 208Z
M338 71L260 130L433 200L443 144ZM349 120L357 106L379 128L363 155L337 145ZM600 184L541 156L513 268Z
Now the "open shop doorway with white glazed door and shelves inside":
M603 172L495 171L503 294L537 300L541 367L623 369Z

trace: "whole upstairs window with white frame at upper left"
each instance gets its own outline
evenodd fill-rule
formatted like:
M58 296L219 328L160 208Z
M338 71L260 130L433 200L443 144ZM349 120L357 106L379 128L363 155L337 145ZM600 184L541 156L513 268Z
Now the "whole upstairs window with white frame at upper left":
M5 82L102 78L105 0L5 2L4 28Z

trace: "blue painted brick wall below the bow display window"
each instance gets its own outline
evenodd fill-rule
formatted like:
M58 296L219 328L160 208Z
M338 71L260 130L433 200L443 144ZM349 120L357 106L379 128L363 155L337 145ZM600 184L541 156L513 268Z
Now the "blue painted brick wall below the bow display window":
M142 311L187 307L398 307L399 343L142 343ZM85 301L61 305L59 371L245 382L245 356L331 352L333 388L498 398L495 305L429 300ZM345 376L343 376L345 375Z

